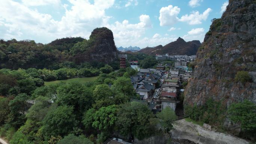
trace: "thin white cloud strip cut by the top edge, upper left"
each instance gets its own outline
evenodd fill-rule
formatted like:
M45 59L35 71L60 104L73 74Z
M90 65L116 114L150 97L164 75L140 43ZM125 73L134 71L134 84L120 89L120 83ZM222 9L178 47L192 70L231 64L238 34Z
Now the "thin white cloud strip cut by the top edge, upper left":
M49 4L60 4L60 0L21 0L26 6L43 6Z

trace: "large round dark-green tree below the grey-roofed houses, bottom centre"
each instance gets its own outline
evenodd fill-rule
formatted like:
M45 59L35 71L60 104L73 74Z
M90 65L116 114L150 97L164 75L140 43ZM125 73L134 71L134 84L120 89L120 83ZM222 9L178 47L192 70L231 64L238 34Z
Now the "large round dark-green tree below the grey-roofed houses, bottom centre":
M149 137L155 132L155 127L150 125L154 117L147 105L140 102L122 104L118 110L116 125L121 134L134 135L139 140Z

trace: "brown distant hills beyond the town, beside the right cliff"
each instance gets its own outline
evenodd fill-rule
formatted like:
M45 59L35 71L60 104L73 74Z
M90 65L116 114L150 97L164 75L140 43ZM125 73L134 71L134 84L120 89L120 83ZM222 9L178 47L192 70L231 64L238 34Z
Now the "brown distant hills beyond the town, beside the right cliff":
M179 37L174 42L168 43L165 46L159 45L153 48L146 47L139 50L138 52L146 53L149 55L155 54L170 54L170 55L196 55L197 49L201 46L199 40L192 40L190 42L185 42Z

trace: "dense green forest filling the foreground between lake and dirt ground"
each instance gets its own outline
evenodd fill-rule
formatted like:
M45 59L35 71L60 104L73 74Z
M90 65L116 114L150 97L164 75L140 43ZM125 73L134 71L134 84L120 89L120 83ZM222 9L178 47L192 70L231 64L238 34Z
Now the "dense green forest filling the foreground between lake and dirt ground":
M0 135L10 144L101 144L114 133L141 140L171 129L167 123L176 119L171 109L155 116L147 105L129 102L138 98L129 79L137 73L132 68L102 73L85 85L43 86L36 72L0 71Z

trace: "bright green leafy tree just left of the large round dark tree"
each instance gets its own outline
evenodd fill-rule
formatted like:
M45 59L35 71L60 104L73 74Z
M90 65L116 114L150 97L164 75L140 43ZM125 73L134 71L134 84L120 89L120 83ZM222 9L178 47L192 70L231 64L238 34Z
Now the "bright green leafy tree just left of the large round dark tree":
M116 122L116 105L109 105L107 107L101 107L93 114L94 122L92 126L101 131L111 131Z

